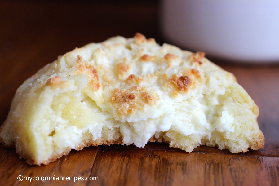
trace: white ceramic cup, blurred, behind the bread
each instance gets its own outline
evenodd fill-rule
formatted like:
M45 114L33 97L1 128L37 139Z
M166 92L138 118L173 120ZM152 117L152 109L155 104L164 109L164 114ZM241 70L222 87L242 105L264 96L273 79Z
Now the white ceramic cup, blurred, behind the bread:
M163 35L237 62L279 62L279 0L162 0Z

